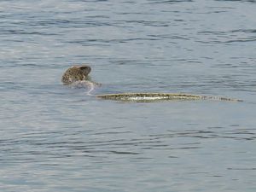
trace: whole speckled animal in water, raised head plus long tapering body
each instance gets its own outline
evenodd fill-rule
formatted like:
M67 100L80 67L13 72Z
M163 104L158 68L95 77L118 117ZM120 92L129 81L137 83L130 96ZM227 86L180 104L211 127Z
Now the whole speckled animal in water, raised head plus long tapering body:
M223 96L200 96L187 93L114 93L114 94L102 94L91 95L90 92L94 90L96 86L101 84L91 80L89 73L91 68L89 65L74 65L69 67L67 71L62 75L62 83L66 85L86 86L89 87L87 92L90 96L96 96L99 99L114 100L120 102L160 102L160 101L172 101L172 100L217 100L228 102L242 102L240 99L228 98Z

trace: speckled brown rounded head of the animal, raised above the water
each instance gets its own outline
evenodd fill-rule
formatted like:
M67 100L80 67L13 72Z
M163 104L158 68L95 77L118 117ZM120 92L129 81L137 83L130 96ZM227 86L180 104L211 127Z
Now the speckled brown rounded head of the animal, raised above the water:
M62 75L63 84L72 84L76 81L82 81L89 79L88 74L90 73L91 68L88 65L75 65L69 67L67 71Z

